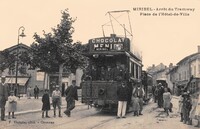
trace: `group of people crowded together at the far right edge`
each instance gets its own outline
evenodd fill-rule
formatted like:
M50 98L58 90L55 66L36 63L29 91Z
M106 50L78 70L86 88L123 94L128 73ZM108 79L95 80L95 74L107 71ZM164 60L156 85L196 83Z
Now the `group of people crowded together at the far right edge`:
M196 127L200 128L200 95L199 91L190 94L189 91L181 91L179 99L179 113L181 115L181 122L192 125L192 120L198 121Z

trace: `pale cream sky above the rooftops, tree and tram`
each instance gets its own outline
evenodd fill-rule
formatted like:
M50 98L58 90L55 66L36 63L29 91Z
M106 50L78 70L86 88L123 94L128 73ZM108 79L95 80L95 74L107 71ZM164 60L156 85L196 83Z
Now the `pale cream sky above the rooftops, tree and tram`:
M102 25L110 20L108 11L130 10L132 45L142 55L144 69L152 64L176 65L196 53L200 45L200 0L0 0L0 50L17 44L21 26L26 37L20 42L29 46L34 42L33 34L51 32L60 23L61 11L67 8L71 17L77 18L73 40L82 43L103 36ZM165 15L160 16L162 13ZM113 16L130 31L126 13ZM112 21L115 33L123 34L119 24ZM104 26L104 32L111 34L111 26Z

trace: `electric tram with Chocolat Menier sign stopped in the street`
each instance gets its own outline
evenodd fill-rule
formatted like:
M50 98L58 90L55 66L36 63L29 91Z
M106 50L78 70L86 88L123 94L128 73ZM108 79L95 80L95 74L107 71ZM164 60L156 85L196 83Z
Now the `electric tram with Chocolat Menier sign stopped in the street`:
M89 40L89 65L84 70L81 82L82 103L93 105L101 110L117 109L117 88L121 82L129 87L128 109L131 110L132 91L141 80L142 61L131 52L130 39L112 34ZM120 77L114 72L120 67Z

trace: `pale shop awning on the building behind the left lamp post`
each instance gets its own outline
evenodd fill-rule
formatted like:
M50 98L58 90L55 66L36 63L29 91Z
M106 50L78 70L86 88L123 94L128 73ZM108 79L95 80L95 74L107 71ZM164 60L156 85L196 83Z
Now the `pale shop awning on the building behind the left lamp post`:
M6 77L6 83L8 84L15 84L15 80L16 80L15 77ZM18 77L17 84L19 84L20 86L25 86L28 80L29 77Z

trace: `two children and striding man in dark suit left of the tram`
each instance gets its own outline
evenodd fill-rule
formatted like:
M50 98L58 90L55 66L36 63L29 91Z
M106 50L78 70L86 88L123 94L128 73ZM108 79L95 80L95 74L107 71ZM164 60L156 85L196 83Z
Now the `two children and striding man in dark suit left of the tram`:
M71 110L75 108L75 100L78 100L78 94L77 94L77 86L76 81L72 80L72 85L70 85L65 90L65 100L67 102L67 108L64 111L64 113L70 117L71 116ZM50 110L50 98L48 94L48 90L45 90L44 95L42 96L42 118L44 118L44 114L46 112L46 118L49 118L48 111ZM62 104L62 96L61 92L59 90L59 86L56 85L55 90L52 92L52 105L53 105L53 112L54 117L56 117L56 108L58 108L58 116L62 117L61 115L61 104Z

